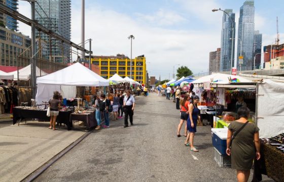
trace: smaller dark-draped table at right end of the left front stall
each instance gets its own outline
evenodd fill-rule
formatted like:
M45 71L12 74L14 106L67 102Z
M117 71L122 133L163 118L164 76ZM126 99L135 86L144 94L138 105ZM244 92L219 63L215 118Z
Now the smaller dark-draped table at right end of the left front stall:
M86 113L72 113L70 114L69 122L84 121L87 124L87 129L97 126L97 121L95 119L95 111Z

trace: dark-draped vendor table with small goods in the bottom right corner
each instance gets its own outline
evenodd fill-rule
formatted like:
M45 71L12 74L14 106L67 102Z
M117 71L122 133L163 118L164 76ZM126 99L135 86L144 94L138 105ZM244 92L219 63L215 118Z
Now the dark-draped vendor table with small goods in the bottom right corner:
M265 174L275 181L284 181L284 153L275 146L261 142L260 160L255 159L254 181L261 181Z

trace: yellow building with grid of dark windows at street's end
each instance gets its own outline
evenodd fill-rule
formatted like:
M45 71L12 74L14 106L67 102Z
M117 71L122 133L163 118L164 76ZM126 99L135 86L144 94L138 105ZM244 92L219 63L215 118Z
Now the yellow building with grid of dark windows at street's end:
M87 57L88 58L88 57ZM117 56L92 56L91 63L98 65L100 76L108 79L114 74L130 78L130 59L125 55ZM146 84L146 58L144 55L132 59L132 79Z

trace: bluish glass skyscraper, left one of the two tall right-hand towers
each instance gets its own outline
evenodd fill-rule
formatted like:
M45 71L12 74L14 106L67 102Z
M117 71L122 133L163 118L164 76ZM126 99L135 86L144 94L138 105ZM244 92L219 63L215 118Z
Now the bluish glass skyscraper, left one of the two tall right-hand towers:
M233 10L226 9L224 10L226 13L230 15L230 17L224 13L222 20L222 32L221 32L221 55L220 55L220 71L230 71L230 63L232 57L232 41L235 38L235 14ZM234 27L234 34L233 28ZM233 60L235 57L235 45L233 44ZM234 64L234 63L233 63Z

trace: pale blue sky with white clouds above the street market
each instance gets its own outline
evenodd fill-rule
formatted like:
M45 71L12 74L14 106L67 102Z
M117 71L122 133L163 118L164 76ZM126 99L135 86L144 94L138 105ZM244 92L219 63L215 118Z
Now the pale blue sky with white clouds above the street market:
M222 12L233 9L238 26L239 8L244 1L225 0L155 0L97 1L86 0L85 37L93 39L94 55L125 54L130 57L133 34L133 56L145 55L151 76L172 78L173 65L188 66L194 73L206 72L209 52L220 47ZM19 11L29 16L29 4L19 2ZM284 1L255 1L255 30L263 33L263 45L276 36L279 19L280 43L284 39ZM72 1L72 41L80 40L81 1ZM20 31L30 35L30 28L20 24ZM237 29L236 29L237 30ZM237 35L237 33L236 33ZM75 56L74 56L75 57ZM175 66L176 68L177 66Z

